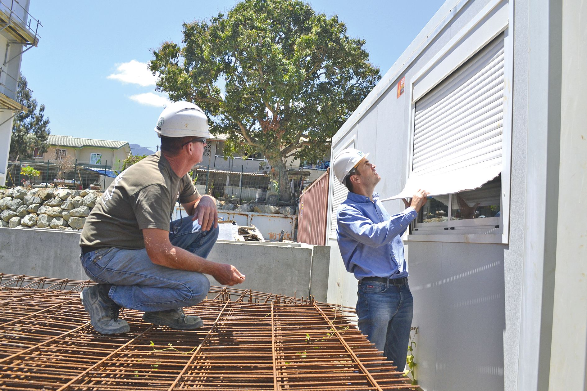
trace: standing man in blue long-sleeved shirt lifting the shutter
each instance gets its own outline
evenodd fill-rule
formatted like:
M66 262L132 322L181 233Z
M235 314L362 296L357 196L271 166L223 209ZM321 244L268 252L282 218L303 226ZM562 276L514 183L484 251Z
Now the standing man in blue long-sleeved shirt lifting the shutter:
M334 158L336 178L349 189L338 208L338 246L346 270L359 280L359 329L397 370L406 364L414 302L400 236L426 203L426 191L414 194L406 210L390 216L375 192L381 180L369 154L347 148Z

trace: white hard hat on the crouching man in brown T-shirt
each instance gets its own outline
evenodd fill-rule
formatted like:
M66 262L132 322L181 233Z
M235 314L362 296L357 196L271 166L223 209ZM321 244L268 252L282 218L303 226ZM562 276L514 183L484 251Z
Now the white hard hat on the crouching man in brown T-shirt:
M155 131L167 137L210 138L204 110L190 102L174 102L167 106L159 115Z

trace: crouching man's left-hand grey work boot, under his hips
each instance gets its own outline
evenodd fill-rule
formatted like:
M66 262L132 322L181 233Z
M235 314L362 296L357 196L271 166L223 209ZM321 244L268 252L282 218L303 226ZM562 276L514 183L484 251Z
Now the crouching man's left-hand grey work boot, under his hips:
M118 318L120 305L108 296L110 287L112 287L110 284L97 284L83 290L79 295L83 307L90 314L93 328L100 334L129 332L129 324Z

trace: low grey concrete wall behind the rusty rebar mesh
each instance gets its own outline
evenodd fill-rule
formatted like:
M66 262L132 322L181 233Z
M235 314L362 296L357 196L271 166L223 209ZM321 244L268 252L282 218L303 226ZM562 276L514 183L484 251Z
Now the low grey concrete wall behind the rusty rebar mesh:
M0 273L87 280L79 264L79 232L0 229ZM218 241L208 259L247 276L238 288L326 301L328 246ZM211 284L220 285L212 277Z

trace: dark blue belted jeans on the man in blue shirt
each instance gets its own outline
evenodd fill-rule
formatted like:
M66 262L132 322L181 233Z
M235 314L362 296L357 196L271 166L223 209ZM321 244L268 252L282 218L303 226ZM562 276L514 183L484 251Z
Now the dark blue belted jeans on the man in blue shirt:
M361 281L357 297L359 330L394 362L397 370L402 371L414 315L409 285L397 287L378 281Z

